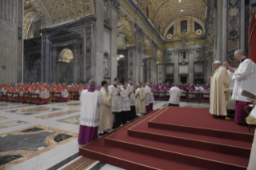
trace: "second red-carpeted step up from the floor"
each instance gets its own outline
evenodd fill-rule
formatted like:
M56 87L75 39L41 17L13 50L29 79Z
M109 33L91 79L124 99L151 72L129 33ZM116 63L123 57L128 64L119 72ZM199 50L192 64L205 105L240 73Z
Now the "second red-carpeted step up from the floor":
M143 122L151 119L154 115L148 116ZM105 141L106 144L145 155L154 155L162 159L181 161L183 164L202 166L201 168L207 169L246 169L249 162L250 152L247 156L234 156L201 148L192 148L191 146L148 140L144 138L143 134L140 134L140 137L128 136L128 128L132 126L134 125L128 125L119 132L108 136Z

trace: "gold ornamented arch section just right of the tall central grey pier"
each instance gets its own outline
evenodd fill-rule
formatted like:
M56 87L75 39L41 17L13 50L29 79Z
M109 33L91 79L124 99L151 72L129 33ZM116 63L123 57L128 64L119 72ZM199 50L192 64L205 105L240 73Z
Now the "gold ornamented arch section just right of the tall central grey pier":
M117 33L122 33L126 35L129 47L135 46L135 35L132 30L132 21L127 17L127 15L122 14L119 23L121 23L123 26L121 26L120 29L117 30Z

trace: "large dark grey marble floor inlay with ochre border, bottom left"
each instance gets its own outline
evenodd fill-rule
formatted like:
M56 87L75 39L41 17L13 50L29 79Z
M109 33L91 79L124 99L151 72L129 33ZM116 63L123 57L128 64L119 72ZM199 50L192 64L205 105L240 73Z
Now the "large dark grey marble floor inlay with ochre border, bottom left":
M36 125L0 136L0 169L6 169L71 140L77 140L78 134Z

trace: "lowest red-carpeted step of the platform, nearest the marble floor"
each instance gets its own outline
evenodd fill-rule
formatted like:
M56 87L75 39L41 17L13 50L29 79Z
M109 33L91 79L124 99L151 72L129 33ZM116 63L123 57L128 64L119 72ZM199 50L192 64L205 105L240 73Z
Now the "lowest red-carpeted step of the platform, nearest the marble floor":
M156 111L157 112L157 111ZM156 157L154 154L145 155L140 152L133 152L128 149L116 148L105 144L105 138L112 135L115 132L120 131L121 129L134 125L142 119L147 118L148 116L154 114L145 115L136 121L128 123L116 129L97 140L94 140L90 144L86 144L83 147L79 148L79 154L86 156L94 160L100 160L107 164L112 164L120 168L125 168L128 170L203 170L207 168L198 167L197 164L185 164L184 162L178 162L175 160L163 159L162 157ZM211 168L209 168L211 169ZM212 168L213 169L213 168Z

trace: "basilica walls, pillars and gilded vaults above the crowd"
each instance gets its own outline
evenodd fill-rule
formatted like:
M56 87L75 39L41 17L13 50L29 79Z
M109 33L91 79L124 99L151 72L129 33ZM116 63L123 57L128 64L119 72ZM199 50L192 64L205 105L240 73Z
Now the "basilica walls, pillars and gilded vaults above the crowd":
M248 51L254 4L2 0L0 80L100 83L118 76L121 82L207 83L213 61L238 67L234 51Z

